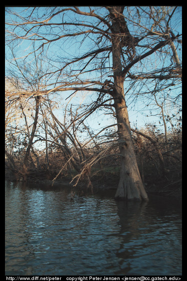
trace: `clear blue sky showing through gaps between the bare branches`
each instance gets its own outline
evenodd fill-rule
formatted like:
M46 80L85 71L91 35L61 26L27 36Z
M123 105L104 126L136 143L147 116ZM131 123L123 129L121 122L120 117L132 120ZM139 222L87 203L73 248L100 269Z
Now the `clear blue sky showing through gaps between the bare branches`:
M8 8L11 9L12 11L13 10L16 11L17 13L19 13L20 11L22 11L24 9L25 10L24 15L29 11L29 10L27 11L25 7L16 6L16 7L8 7ZM83 10L83 9L88 9L88 7L81 7L81 10ZM99 7L96 7L96 9L99 9ZM181 9L181 7L178 7L178 15L179 15L180 9ZM100 12L101 11L102 10L100 10ZM39 15L41 17L46 12L47 12L47 10L45 9L45 7L39 7ZM54 18L54 22L61 22L61 16L62 16L62 14L57 15ZM73 12L70 12L70 13L64 12L63 21L68 22L69 20L71 20L71 16L74 17ZM6 14L5 14L5 17L6 17ZM145 18L145 20L146 20L146 18ZM173 22L174 21L176 22L173 25L175 28L175 32L181 33L181 25L179 24L179 20L177 20L177 18L173 18ZM129 26L131 26L131 24L132 23L129 23ZM65 26L64 28L67 28L67 27ZM73 26L68 27L67 32L69 32L69 30L71 30L72 28L74 28L74 27ZM58 31L59 31L59 26L52 28L50 37L52 37L53 34L57 33ZM44 30L43 30L43 32L44 32ZM48 35L49 34L46 34L46 36L48 36ZM77 37L76 42L73 41L72 39L68 39L68 40L64 39L61 41L53 42L47 50L47 55L50 58L50 61L43 62L43 69L45 69L45 66L49 67L50 65L53 68L55 68L55 66L60 67L61 61L65 57L67 57L69 55L74 55L74 56L80 55L80 53L86 52L89 49L91 50L91 45L89 45L89 43L88 43L88 42L90 42L90 40L81 41L82 38L83 38L83 35L80 35ZM35 45L39 45L39 44L41 44L41 42L42 41L35 41ZM81 43L81 47L79 47L80 43ZM23 56L25 54L27 54L29 51L32 51L32 41L25 41L25 40L20 39L19 44L16 47L16 56L22 57L22 61L23 61ZM179 56L181 56L181 51L179 50L179 46L177 48L177 51L178 51ZM6 52L7 56L9 57L8 47L5 48L5 52ZM25 63L25 65L27 65L27 67L29 67L30 63L33 61L33 58L34 58L33 55L30 55L27 59L24 60L24 63ZM43 59L44 59L44 61L46 60L44 57L43 57ZM48 62L50 62L50 63L48 64ZM147 64L146 67L147 67L148 71L151 69L151 67L154 68L154 67L158 67L159 64L161 65L162 61L156 61L156 62L154 61L154 63L156 63L156 65ZM170 63L170 62L168 62L168 63ZM107 65L105 65L105 66L107 66ZM135 65L136 68L134 68L134 71L138 71L137 66L138 66L138 64ZM78 64L77 64L77 67L78 67ZM141 67L141 63L139 63L139 67ZM69 70L72 70L72 68L69 67ZM89 76L88 76L88 73L82 74L82 77L93 79L94 75L99 76L100 74L97 71L97 72L91 72L91 74L89 74ZM101 79L101 77L97 77L97 78ZM105 80L105 78L107 78L107 75L103 75L103 77L102 77L103 81ZM150 84L148 84L148 85L150 85ZM153 87L153 86L154 85L152 83L151 87ZM129 82L126 80L124 82L124 88L128 89L128 87L129 87ZM178 93L180 93L181 89L180 88L174 89L175 87L176 86L174 86L174 87L170 86L168 89L165 89L163 92L160 92L159 101L161 102L162 99L164 98L164 96L167 95L167 90L169 91L169 94L171 94L171 91L173 91L172 95L177 95ZM137 127L143 127L146 122L156 122L158 124L158 126L160 126L160 128L162 129L163 123L160 122L160 124L159 124L158 121L160 121L160 118L159 118L159 116L155 116L155 112L156 112L155 110L152 110L153 111L153 112L151 112L152 116L150 116L150 109L152 107L156 108L156 105L153 105L153 101L149 100L148 94L144 94L143 98L142 98L142 96L140 96L140 98L139 98L139 96L138 96L139 89L141 90L141 92L142 91L148 92L148 90L149 90L149 89L147 89L146 83L145 83L144 86L141 85L141 87L139 87L139 86L136 86L134 88L132 87L129 90L129 92L126 94L126 102L127 102L127 106L128 106L129 120L131 122L132 127L133 127L133 124L137 124ZM67 96L69 96L70 93L71 92L69 92L69 91L67 91L67 92L63 91L63 92L59 93L61 96L62 103L66 102L65 98ZM80 100L82 99L82 95L84 95L84 93L80 92L80 93L76 94L76 97L74 99L72 99L72 103L79 104ZM86 102L91 100L93 96L95 98L96 94L87 92ZM150 103L151 103L151 106L147 106L147 104L150 105ZM169 108L168 104L167 104L167 107L168 108L166 108L166 110L168 110L168 113L170 113L172 108ZM173 109L173 110L175 110L175 109ZM60 111L60 108L59 108L59 111ZM160 111L160 109L159 109L159 111ZM56 113L57 113L57 111L56 111ZM58 112L58 114L60 115L60 112ZM148 116L146 116L146 115L148 115ZM107 114L105 115L104 112L99 111L98 114L93 114L91 117L89 117L88 122L89 122L90 127L94 128L94 129L99 129L100 126L102 126L102 125L105 126L105 124L115 123L115 118L113 118L111 115L107 115ZM98 124L100 124L100 125L98 125ZM168 126L169 126L169 123L168 123Z

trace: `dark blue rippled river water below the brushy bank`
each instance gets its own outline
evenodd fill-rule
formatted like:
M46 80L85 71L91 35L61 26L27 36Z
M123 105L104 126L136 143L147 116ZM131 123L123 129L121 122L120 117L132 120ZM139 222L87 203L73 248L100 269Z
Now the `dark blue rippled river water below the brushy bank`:
M71 189L5 182L6 275L181 275L179 201Z

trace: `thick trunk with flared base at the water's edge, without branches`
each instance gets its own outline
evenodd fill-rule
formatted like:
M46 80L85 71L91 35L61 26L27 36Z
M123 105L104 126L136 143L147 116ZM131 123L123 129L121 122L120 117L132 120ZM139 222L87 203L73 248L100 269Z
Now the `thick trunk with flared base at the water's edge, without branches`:
M122 72L121 47L126 45L130 34L122 15L122 6L108 8L111 18L111 43L114 89L114 107L118 126L118 142L120 150L120 179L115 193L115 198L127 200L148 199L142 183L137 161L133 149L127 106L124 99L123 82L126 73ZM121 32L123 32L122 35ZM121 45L122 42L122 45Z

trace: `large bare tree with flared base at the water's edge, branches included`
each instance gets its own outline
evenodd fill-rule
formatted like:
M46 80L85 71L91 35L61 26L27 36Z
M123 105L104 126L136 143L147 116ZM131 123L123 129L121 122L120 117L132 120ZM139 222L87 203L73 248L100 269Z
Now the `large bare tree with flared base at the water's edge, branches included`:
M22 55L25 61L33 53L39 56L46 51L50 56L51 69L43 74L50 76L50 83L45 89L25 90L24 94L38 98L67 90L95 92L97 95L85 110L84 118L102 107L112 107L115 111L120 154L120 179L115 197L146 200L133 150L123 84L129 77L135 80L181 78L181 64L174 45L181 34L174 35L172 26L177 7L70 6L44 10L33 7L17 13L10 8L6 12L7 42L34 42L34 52ZM57 55L52 51L58 43L62 47L72 42L74 56L62 55L61 49ZM88 51L87 48L84 51L85 43ZM150 70L149 61L154 56L157 59L166 56L170 48L177 71L171 71L173 64L168 65L166 59L164 72L163 66ZM141 74L134 75L134 66L139 64Z

